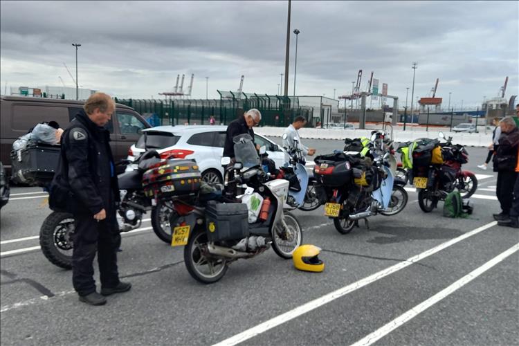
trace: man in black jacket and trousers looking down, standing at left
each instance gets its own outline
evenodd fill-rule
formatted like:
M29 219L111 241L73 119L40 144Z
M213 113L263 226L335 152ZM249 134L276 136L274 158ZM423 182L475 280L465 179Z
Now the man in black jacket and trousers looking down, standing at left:
M72 282L79 300L106 304L104 295L125 292L120 282L116 219L117 174L109 145L109 122L116 105L109 95L94 93L62 135L60 163L51 185L49 205L74 215ZM101 294L95 290L93 259L98 253Z

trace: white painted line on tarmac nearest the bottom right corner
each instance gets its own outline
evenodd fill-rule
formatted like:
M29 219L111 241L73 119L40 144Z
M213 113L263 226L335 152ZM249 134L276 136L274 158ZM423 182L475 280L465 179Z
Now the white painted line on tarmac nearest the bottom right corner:
M464 285L468 284L468 282L471 282L476 277L482 275L485 271L488 271L490 268L498 264L499 262L502 262L510 255L513 255L513 253L516 253L516 251L519 250L519 243L509 248L507 251L504 251L504 253L501 253L500 255L494 257L489 262L486 262L479 268L475 269L474 271L471 271L471 273L468 273L461 279L457 280L450 286L448 286L446 289L443 289L436 293L435 295L432 295L428 300L425 300L424 302L421 302L416 307L413 307L412 309L408 310L407 312L401 314L398 318L395 318L391 322L389 322L387 325L384 325L383 327L377 329L373 333L365 336L361 340L358 340L356 343L352 344L352 346L367 346L371 345L372 343L375 343L377 340L383 338L383 336L390 334L391 331L394 331L394 329L397 329L404 323L408 322L408 320L411 320L412 318L415 318L419 313L422 311L432 307L432 305L436 304L440 300L448 297L451 293L454 293L458 289L462 288Z

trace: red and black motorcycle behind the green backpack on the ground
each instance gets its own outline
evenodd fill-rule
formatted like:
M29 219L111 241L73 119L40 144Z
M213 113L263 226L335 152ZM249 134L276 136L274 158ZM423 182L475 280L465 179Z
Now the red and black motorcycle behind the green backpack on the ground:
M463 199L468 199L477 190L475 174L462 170L462 165L468 163L466 149L463 145L453 145L453 138L445 138L443 132L439 132L438 136L446 140L446 143L440 143L444 163L413 167L413 183L418 191L418 205L424 212L431 212L437 208L438 201L444 201L447 194L455 189L459 190Z

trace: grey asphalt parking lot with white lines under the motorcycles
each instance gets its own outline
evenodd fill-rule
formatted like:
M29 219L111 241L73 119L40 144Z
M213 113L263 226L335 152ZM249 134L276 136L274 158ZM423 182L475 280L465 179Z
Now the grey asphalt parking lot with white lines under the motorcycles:
M280 138L273 138L280 143ZM307 140L318 153L342 141ZM71 271L48 262L38 233L50 213L40 188L12 188L1 210L2 345L519 345L519 232L496 226L496 174L476 166L474 213L406 209L340 235L322 207L296 211L304 244L322 248L323 273L296 271L273 251L199 284L183 248L161 242L149 215L118 255L131 291L104 307L78 302ZM96 270L97 272L97 270ZM98 280L97 280L98 281Z

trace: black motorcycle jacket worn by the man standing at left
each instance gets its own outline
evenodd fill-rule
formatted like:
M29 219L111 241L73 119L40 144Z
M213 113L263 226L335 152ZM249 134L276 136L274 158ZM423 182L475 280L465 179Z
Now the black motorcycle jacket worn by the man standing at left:
M95 215L119 201L115 164L107 129L98 127L84 110L62 134L61 155L49 191L53 210Z

